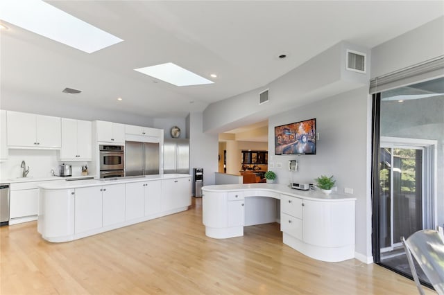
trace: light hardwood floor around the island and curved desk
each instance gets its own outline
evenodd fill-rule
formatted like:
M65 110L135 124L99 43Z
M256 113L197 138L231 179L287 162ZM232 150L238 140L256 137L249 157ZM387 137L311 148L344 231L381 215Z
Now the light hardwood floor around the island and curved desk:
M37 223L0 228L0 294L418 294L413 281L358 260L321 262L282 244L279 224L205 236L189 211L74 242ZM426 294L436 294L425 288Z

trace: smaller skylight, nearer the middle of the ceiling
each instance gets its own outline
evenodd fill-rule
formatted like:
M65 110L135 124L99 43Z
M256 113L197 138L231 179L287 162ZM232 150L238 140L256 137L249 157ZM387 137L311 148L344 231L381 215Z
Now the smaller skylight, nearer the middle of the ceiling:
M156 66L146 66L145 68L135 69L135 71L179 87L214 83L172 62L157 64Z

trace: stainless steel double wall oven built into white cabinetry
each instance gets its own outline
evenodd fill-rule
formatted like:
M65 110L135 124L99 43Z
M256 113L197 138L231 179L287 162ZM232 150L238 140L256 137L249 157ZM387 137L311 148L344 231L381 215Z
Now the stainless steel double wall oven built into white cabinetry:
M125 146L99 145L100 178L125 176Z

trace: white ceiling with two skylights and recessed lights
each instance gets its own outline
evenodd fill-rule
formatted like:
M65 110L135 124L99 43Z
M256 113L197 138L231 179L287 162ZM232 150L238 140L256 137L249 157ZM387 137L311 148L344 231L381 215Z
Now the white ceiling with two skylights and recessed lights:
M32 102L185 117L262 87L341 40L373 48L444 11L443 1L48 2L124 41L88 54L6 23L2 108ZM215 83L176 87L133 70L164 62ZM65 87L83 92L67 95Z

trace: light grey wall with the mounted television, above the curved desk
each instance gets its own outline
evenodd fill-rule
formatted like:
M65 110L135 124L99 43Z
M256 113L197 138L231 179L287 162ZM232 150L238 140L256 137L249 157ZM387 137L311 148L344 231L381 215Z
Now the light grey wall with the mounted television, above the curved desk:
M368 88L341 93L310 105L291 109L268 118L268 166L278 175L278 183L314 183L320 175L334 175L337 192L352 188L356 202L356 251L371 256L366 237L371 234L367 215L371 208L367 202L367 102ZM316 118L319 141L316 155L275 155L274 127L287 123ZM298 171L289 172L289 160L297 159ZM276 168L281 163L282 168Z

